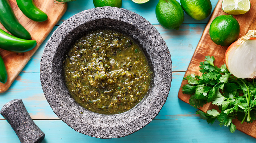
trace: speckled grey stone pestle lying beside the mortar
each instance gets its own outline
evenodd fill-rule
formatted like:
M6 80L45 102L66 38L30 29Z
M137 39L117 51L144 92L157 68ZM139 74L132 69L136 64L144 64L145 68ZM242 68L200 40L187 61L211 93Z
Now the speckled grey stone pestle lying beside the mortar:
M44 139L45 134L31 119L21 99L6 103L0 114L11 125L21 143L40 143Z

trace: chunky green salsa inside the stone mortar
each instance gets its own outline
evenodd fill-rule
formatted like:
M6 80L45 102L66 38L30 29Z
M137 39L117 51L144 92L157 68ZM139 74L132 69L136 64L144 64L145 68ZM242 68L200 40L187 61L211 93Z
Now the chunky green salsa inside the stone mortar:
M64 60L71 96L99 114L123 113L147 94L152 71L137 44L113 30L99 30L78 39Z

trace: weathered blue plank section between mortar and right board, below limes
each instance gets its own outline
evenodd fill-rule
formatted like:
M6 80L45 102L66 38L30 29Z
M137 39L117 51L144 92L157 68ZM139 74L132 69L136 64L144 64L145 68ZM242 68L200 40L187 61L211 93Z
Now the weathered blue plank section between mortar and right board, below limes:
M182 24L177 31L155 25L171 53L173 71L187 70L205 26L206 24Z

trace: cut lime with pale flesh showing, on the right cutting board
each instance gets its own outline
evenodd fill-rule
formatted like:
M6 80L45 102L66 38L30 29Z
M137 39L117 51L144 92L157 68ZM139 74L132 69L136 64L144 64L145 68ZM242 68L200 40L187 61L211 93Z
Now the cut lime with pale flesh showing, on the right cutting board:
M250 0L223 0L222 10L228 14L245 14L251 8Z

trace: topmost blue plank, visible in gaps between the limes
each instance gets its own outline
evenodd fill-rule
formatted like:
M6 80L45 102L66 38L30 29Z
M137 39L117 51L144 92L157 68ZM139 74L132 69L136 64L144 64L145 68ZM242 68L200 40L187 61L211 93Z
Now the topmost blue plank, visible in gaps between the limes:
M177 0L180 2L180 0ZM215 8L218 0L211 0L212 3L212 11ZM144 17L146 20L148 20L152 24L159 24L156 18L155 9L156 5L158 3L158 0L150 0L147 3L144 4L136 4L132 2L131 0L123 0L122 8L128 9L130 11L133 11L140 16ZM75 15L76 13L79 13L83 10L94 8L93 1L92 0L77 0L72 1L68 3L68 9L66 13L63 15L61 20L58 22L58 25L62 24L63 21L67 20L71 16ZM191 17L189 17L185 13L185 18L183 24L199 24L203 23L206 24L209 21L210 16L204 20L195 20Z

